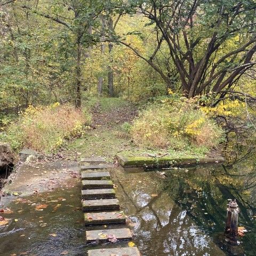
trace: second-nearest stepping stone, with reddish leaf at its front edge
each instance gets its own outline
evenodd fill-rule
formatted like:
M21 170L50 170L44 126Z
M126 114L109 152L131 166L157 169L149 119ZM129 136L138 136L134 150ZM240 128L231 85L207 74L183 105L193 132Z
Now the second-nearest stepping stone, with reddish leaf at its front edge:
M129 228L117 229L102 229L86 231L86 241L108 241L109 236L114 236L116 239L131 239L132 233Z

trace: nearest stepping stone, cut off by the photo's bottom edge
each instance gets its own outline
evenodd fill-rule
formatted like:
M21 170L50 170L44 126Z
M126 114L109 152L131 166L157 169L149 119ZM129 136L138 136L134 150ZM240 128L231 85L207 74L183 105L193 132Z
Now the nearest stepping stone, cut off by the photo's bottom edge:
M137 247L124 247L113 249L95 249L89 250L88 256L140 256L140 252Z

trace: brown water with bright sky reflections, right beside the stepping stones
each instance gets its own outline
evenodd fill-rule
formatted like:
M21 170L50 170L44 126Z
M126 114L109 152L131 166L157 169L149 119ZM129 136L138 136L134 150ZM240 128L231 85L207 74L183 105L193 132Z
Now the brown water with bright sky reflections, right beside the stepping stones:
M182 255L187 250L203 255L209 247L216 252L218 247L210 246L213 243L211 239L205 237L205 234L191 221L186 211L175 204L172 197L167 194L168 187L162 186L165 180L160 178L159 174L154 172L151 174L154 175L138 174L134 177L126 177L125 181L122 181L123 177L118 178L119 191L125 201L130 204L129 215L132 214L139 219L138 233L142 230L147 233L146 240L140 240L143 243L141 246L145 250L149 246L150 255L160 255L159 253L167 253L167 251L172 253L171 255ZM142 177L143 182L140 181ZM156 187L157 184L160 186ZM138 196L140 193L149 195L143 205L140 202L141 197ZM196 235L189 233L191 227L196 230ZM151 243L154 243L154 246L150 246Z

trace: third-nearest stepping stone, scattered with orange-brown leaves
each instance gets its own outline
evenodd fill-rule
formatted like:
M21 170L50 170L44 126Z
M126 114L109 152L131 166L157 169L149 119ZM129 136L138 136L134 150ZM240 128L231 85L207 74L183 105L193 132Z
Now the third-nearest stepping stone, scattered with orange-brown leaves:
M85 225L125 223L126 218L123 212L90 212L84 214Z

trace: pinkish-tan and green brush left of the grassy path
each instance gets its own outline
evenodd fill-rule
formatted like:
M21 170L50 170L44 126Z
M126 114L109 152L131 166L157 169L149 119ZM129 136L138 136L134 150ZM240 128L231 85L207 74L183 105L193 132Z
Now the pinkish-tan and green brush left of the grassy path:
M0 139L11 143L14 150L27 147L49 153L65 140L81 136L89 122L88 115L69 105L29 106Z

